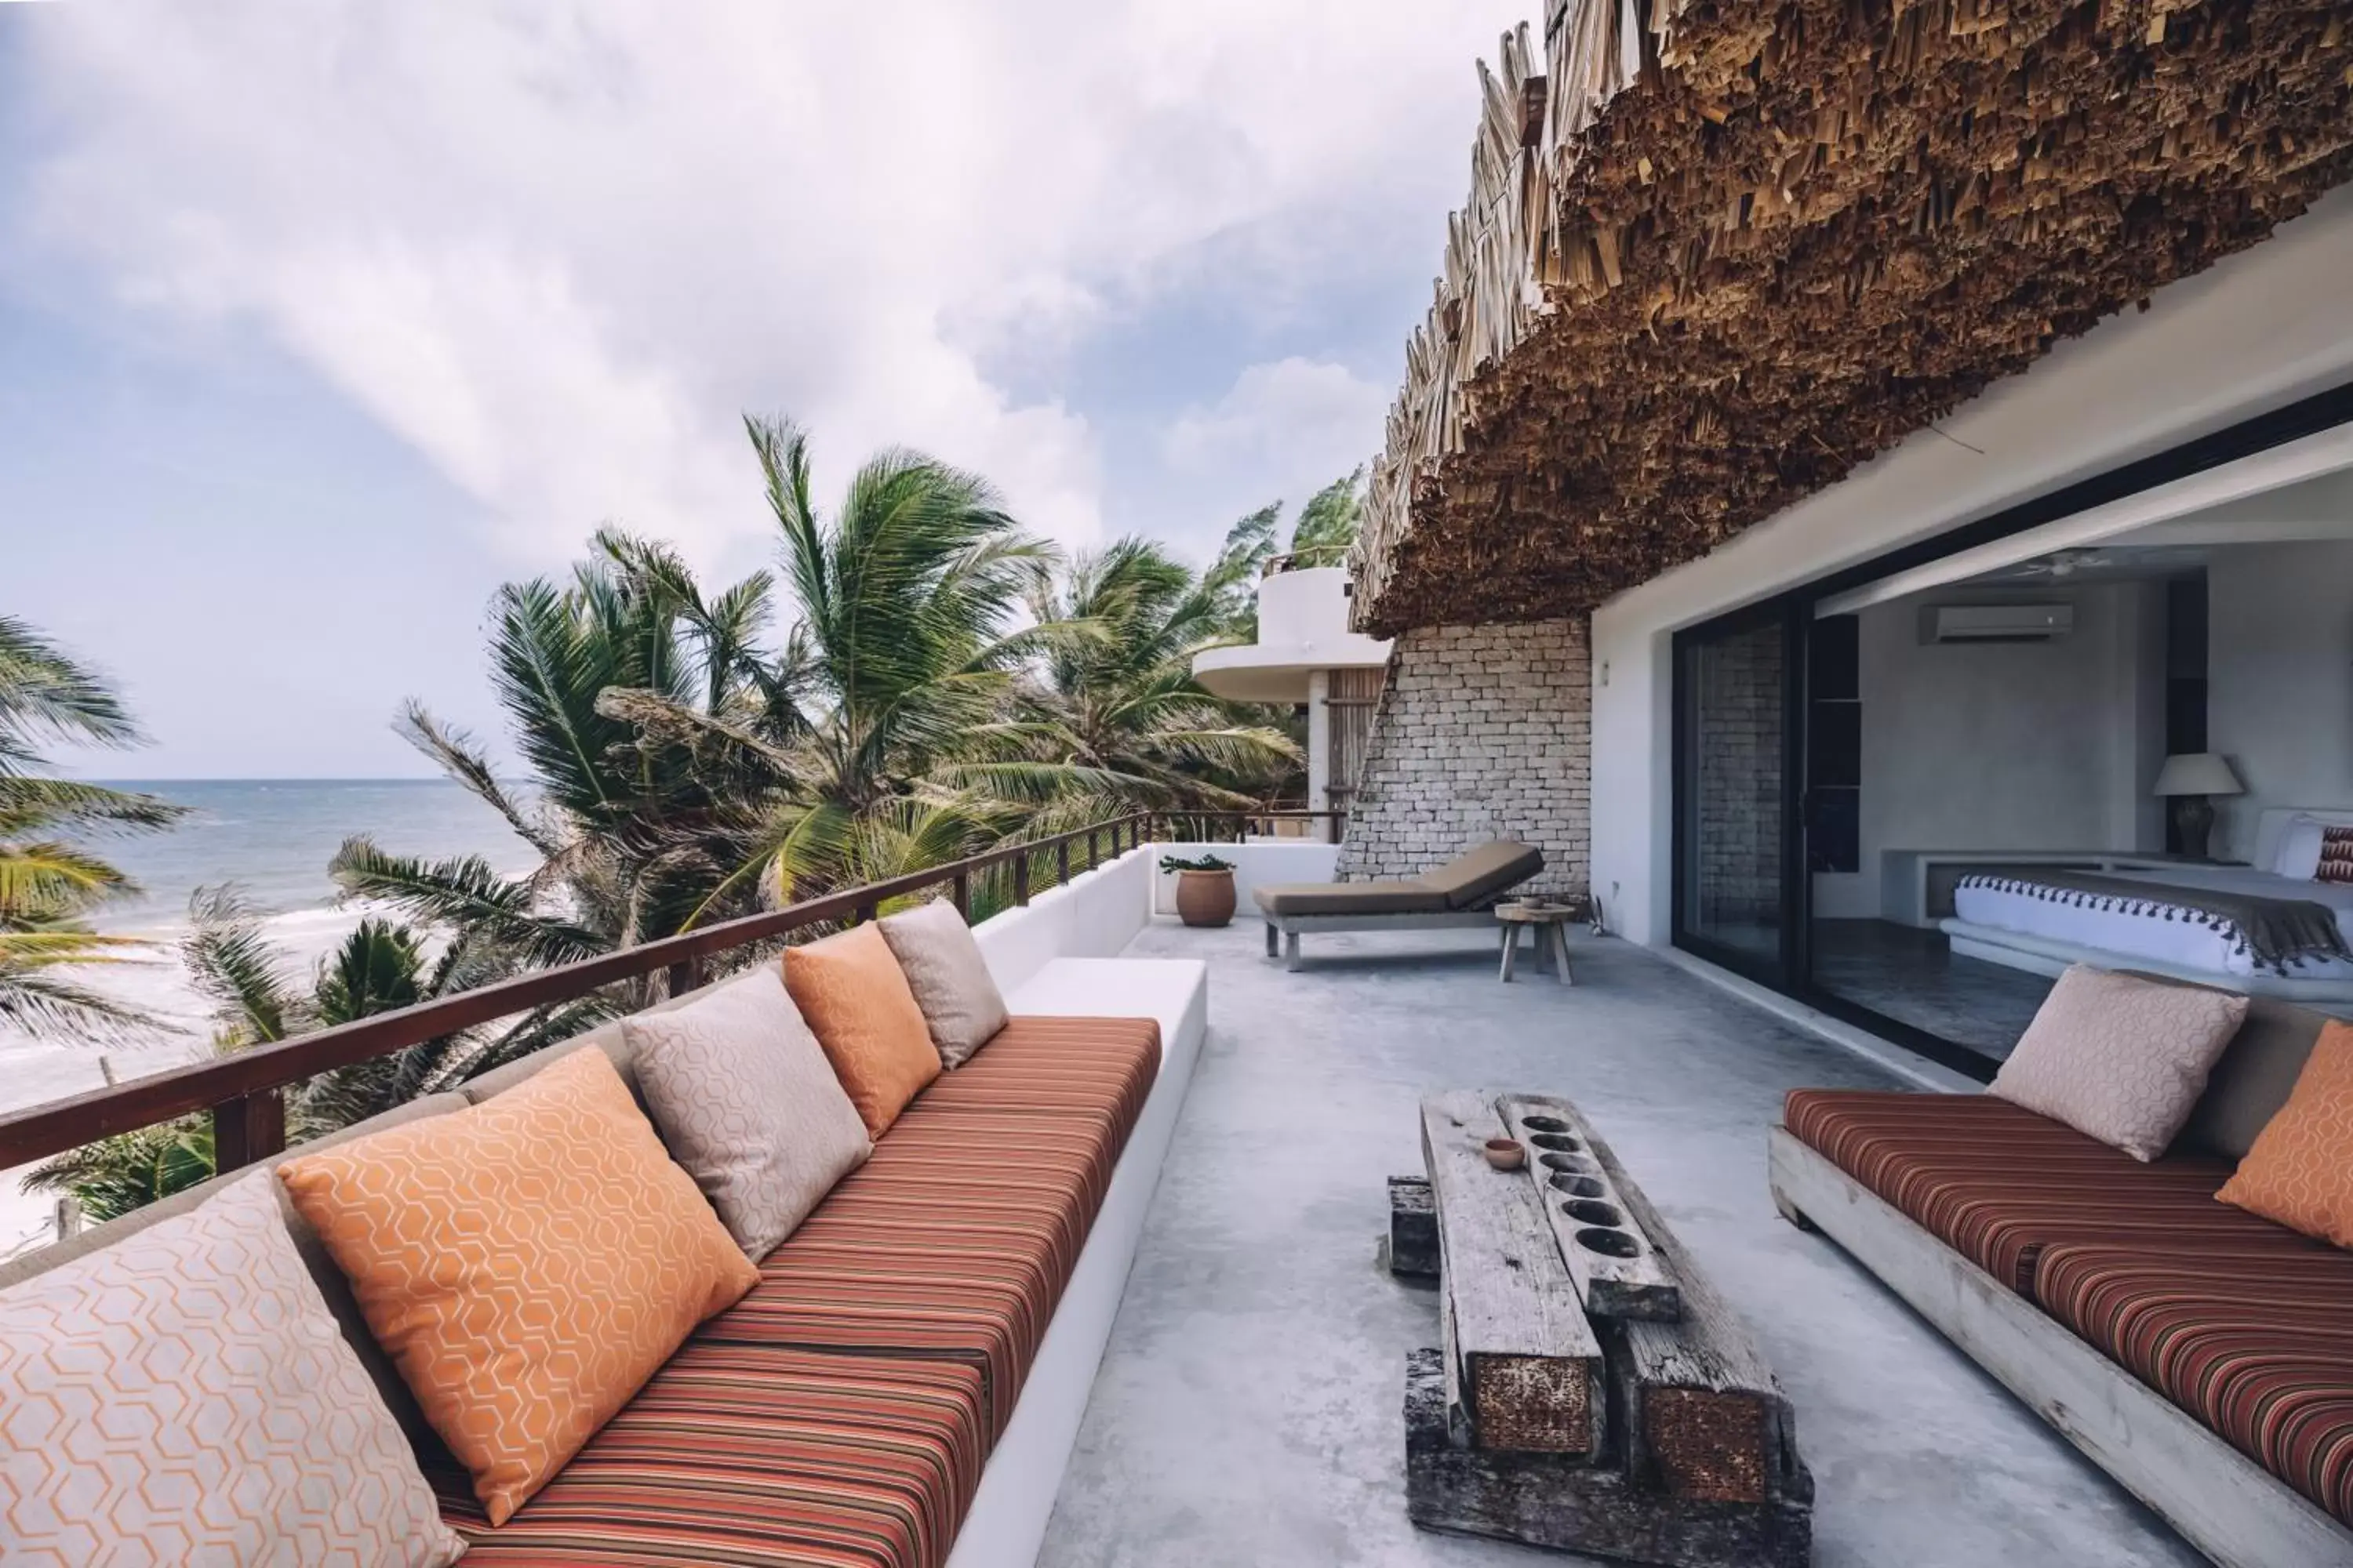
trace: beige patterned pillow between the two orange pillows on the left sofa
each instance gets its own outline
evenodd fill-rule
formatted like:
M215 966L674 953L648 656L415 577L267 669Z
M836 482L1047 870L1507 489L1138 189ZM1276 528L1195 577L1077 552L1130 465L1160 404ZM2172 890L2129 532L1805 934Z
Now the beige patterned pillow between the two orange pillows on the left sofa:
M753 1260L793 1234L873 1143L774 964L624 1018L671 1159Z

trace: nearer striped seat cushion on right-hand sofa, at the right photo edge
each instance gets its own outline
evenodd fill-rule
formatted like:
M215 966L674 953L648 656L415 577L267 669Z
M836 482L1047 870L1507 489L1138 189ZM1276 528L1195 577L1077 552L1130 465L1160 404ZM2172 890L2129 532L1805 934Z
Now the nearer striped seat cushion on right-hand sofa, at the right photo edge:
M2141 1382L2353 1523L2353 1253L2275 1225L2195 1248L2068 1241L2045 1248L2035 1295Z

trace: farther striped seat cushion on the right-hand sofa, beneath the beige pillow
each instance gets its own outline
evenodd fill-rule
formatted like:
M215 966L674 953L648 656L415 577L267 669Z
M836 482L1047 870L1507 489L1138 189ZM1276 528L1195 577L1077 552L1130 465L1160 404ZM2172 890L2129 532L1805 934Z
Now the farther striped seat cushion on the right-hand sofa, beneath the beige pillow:
M2214 1201L2226 1161L2141 1164L1993 1095L1800 1088L1784 1126L2021 1295L2061 1241L2228 1244L2273 1229Z

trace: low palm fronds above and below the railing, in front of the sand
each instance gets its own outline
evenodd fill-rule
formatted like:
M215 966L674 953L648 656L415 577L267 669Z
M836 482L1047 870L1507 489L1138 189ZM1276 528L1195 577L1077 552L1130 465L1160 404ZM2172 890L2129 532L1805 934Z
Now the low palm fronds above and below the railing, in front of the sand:
M409 926L367 917L304 985L294 961L264 936L261 919L235 886L198 889L188 900L191 926L179 957L198 992L212 1001L216 1056L416 1006L494 978L475 973L456 945L435 959L428 938ZM287 1135L301 1143L456 1088L612 1013L609 999L586 997L322 1072L287 1095ZM40 1166L24 1185L71 1194L92 1220L113 1220L212 1175L212 1117L200 1114L101 1138Z

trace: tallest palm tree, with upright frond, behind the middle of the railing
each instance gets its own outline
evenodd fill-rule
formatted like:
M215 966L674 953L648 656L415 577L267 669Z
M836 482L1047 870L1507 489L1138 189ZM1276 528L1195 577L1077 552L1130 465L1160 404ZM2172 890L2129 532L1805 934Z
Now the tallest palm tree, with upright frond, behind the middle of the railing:
M1014 630L1056 552L1019 531L986 480L882 451L826 515L807 435L746 418L767 480L798 621L746 672L744 701L687 705L609 691L605 712L696 757L746 830L736 865L694 919L765 884L779 898L955 860L1016 830L1019 802L962 764L1005 717L1021 668L1071 628Z

